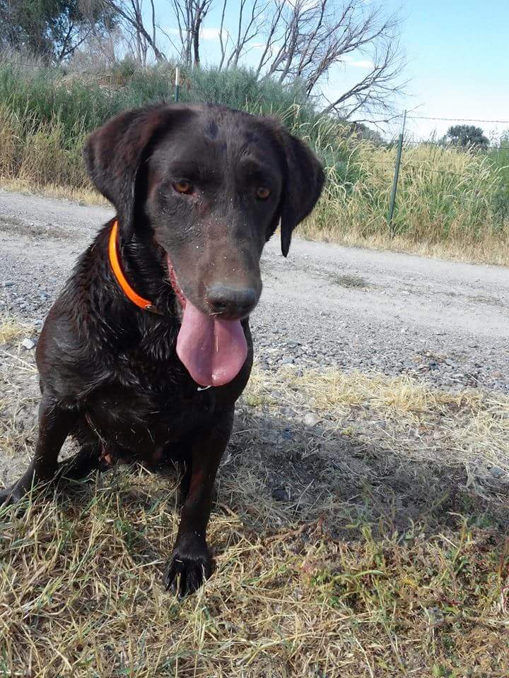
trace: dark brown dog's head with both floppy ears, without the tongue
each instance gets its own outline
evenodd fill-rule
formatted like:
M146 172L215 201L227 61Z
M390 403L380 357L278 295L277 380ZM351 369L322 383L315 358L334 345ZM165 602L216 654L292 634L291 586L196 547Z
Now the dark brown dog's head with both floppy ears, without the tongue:
M90 136L85 156L124 242L148 230L189 306L222 321L252 311L264 243L281 222L286 256L324 183L315 154L279 121L218 106L122 113Z

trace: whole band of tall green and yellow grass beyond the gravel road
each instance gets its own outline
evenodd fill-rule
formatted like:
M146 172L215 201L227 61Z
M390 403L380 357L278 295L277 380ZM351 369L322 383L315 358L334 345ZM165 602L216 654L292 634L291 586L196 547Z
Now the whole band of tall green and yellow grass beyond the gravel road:
M117 112L172 100L174 66L73 73L0 59L0 175L4 183L92 190L81 160L87 134ZM352 138L319 117L298 87L257 83L250 71L183 73L183 101L275 114L322 158L324 195L300 232L346 244L411 249L509 265L509 143L489 153L404 148L392 227L395 149Z

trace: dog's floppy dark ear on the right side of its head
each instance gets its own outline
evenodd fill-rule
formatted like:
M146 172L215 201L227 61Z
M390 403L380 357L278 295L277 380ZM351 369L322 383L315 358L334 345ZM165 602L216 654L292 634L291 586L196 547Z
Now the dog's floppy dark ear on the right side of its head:
M286 177L281 196L281 252L288 254L293 229L315 207L325 182L322 163L307 144L280 126L286 155Z

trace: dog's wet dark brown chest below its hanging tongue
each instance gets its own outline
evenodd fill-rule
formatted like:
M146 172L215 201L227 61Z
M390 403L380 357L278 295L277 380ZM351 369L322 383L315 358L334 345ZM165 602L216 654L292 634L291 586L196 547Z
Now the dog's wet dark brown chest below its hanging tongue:
M169 354L169 355L168 355ZM249 378L252 350L226 386L201 388L174 350L153 342L111 356L101 383L86 398L81 420L86 436L100 441L112 458L151 463L187 456L197 435L212 429L218 410L233 408Z

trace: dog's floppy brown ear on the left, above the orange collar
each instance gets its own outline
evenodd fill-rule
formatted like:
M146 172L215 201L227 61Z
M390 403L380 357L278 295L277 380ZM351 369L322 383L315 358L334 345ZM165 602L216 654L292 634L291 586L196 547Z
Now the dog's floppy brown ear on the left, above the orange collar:
M88 174L98 191L115 205L127 241L134 233L136 180L152 141L189 113L182 105L134 109L108 120L88 138L83 150Z

